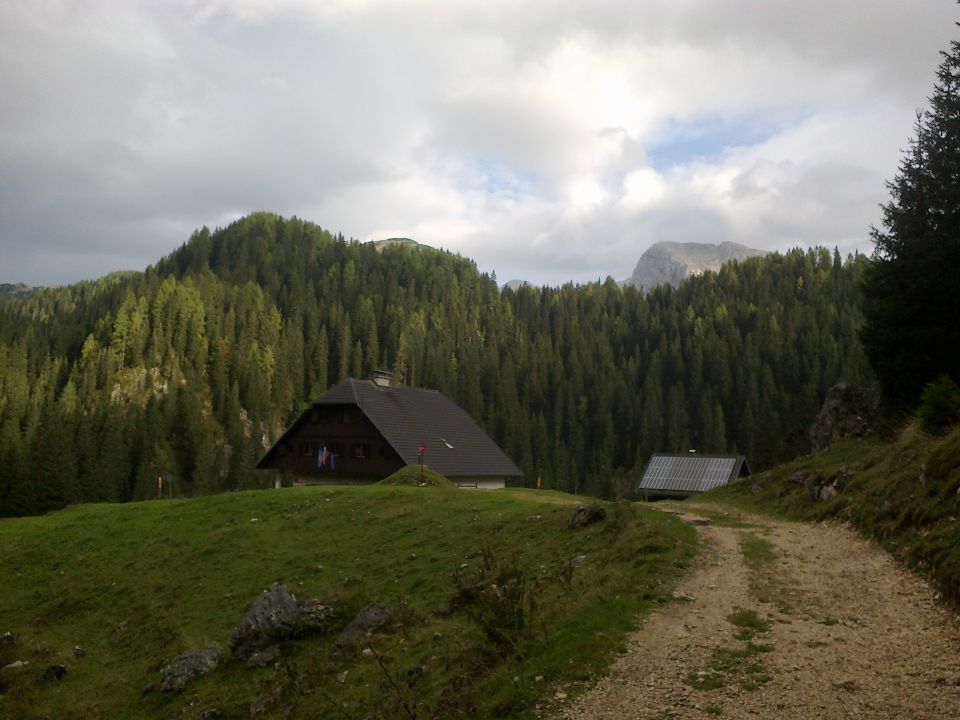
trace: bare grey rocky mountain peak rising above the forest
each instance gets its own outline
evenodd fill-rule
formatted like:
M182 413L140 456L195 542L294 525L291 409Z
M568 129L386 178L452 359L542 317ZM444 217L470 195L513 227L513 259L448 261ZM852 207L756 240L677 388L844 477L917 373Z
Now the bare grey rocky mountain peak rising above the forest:
M769 254L734 242L710 243L658 242L640 256L637 266L623 285L653 290L658 285L673 285L707 270L717 272L731 260L746 260Z

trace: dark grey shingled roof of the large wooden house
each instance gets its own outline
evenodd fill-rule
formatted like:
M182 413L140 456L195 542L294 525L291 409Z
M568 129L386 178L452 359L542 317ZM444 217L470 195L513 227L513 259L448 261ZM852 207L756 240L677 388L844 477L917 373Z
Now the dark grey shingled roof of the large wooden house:
M313 402L340 404L357 405L408 465L418 463L417 450L423 446L424 463L447 477L523 475L473 418L438 390L380 387L372 380L348 378ZM308 413L309 408L287 433Z

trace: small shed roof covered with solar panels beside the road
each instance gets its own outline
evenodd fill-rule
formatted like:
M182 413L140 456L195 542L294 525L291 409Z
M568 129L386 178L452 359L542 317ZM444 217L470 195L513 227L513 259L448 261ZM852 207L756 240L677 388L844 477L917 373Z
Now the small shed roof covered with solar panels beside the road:
M640 479L645 494L693 495L750 474L743 455L666 455L655 453Z

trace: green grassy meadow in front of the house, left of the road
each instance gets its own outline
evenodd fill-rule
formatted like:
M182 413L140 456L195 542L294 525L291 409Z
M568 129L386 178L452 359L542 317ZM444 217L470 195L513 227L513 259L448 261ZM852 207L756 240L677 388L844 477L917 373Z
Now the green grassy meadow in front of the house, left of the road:
M690 527L629 504L571 530L571 499L308 487L2 520L0 668L28 664L0 670L0 717L532 716L610 661L695 549ZM337 627L250 669L230 634L276 581L332 604ZM337 648L372 601L399 627ZM158 689L165 662L210 645L216 670Z

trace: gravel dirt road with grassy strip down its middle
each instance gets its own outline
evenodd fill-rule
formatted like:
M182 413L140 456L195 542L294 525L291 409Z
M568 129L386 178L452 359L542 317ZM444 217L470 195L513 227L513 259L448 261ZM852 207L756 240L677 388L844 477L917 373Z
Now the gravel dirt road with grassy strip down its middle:
M960 718L960 623L916 576L836 525L709 518L674 600L557 716Z

